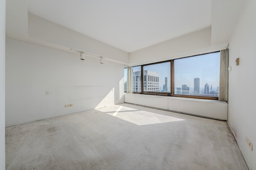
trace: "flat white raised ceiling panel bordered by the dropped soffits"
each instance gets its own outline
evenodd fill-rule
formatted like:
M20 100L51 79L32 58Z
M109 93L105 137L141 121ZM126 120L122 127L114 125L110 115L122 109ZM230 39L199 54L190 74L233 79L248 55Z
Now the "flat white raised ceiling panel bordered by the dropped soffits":
M126 52L212 25L211 0L28 0L28 11Z

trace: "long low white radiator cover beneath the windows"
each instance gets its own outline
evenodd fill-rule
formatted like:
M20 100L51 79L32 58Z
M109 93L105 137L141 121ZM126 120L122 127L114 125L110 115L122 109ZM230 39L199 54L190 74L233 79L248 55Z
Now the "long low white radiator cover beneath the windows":
M124 94L124 102L202 117L228 120L228 103L226 101L144 94Z

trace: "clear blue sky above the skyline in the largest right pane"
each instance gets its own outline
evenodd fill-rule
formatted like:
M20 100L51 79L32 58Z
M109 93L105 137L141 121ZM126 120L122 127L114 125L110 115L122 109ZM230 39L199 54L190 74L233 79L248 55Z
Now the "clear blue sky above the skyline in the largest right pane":
M174 60L174 88L186 84L194 86L194 78L200 78L200 87L207 84L219 86L220 52Z

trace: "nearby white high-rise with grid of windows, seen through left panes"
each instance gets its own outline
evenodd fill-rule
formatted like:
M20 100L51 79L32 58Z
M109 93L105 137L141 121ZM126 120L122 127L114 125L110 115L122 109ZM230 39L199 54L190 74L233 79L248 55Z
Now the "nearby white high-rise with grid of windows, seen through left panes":
M141 92L141 71L132 70L132 91ZM144 70L143 86L145 92L159 92L159 73Z

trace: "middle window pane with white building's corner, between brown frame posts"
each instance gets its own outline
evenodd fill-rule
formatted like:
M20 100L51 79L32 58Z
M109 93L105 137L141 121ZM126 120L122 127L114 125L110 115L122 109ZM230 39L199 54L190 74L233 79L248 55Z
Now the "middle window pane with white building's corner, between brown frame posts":
M144 66L143 70L150 77L144 80L145 92L170 92L170 62Z

